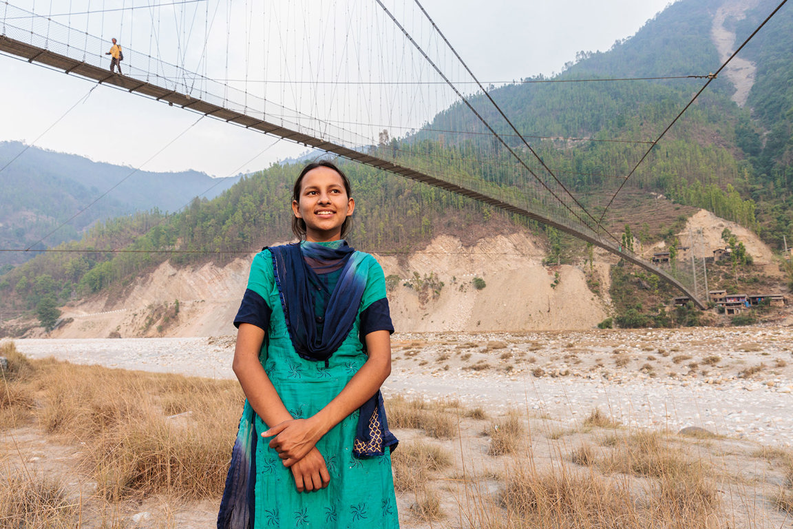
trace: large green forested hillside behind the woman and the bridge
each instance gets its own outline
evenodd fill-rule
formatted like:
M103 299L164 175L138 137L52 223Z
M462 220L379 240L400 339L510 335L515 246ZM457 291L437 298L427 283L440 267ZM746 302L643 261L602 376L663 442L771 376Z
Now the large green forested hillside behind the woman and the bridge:
M695 78L554 83L532 78L494 88L490 94L544 163L554 168L557 177L593 212L602 212L609 197L624 184L623 195L649 197L652 191L680 207L709 209L757 231L780 249L783 236L793 242L791 8L780 10L745 48L745 58L757 67L747 105L741 107L731 99L735 86L719 75L625 180L648 151L647 142L657 139L688 104L706 82L703 76L721 65L711 30L714 13L723 4L722 0L675 2L635 36L615 43L607 52L580 52L577 60L552 80ZM775 6L775 2L760 0L743 13L745 17L726 18L724 27L735 33L735 47ZM487 108L482 94L473 98L473 104ZM483 110L485 117L495 113L492 108ZM459 128L461 123L474 133L484 130L462 104L439 113L427 128ZM428 137L419 131L392 139L381 148L410 156L419 146L427 149ZM439 158L454 159L463 174L485 179L492 186L513 185L499 170L513 162L506 155L486 161L464 156L488 141L492 139L484 134L448 136L429 147ZM358 201L352 240L366 251L406 252L443 233L473 239L492 231L494 225L504 229L527 225L462 197L369 167L354 163L343 167ZM124 248L130 252L41 255L0 278L0 295L18 310L33 309L45 299L52 305L124 284L132 274L165 259L178 264L206 259L223 263L237 255L233 252L254 251L287 240L289 186L299 170L297 165L274 165L243 178L212 201L194 200L171 217L159 212L137 213L99 223L83 240L67 243L63 249ZM140 180L136 182L147 188ZM635 202L625 204L630 211L619 211L619 200L609 210L607 222L612 228L621 230L619 223L629 215L641 220L647 227L634 225L634 232L643 234L642 242L672 229L671 225L657 225L658 218L642 219L642 207ZM554 230L546 233L558 263L565 240Z

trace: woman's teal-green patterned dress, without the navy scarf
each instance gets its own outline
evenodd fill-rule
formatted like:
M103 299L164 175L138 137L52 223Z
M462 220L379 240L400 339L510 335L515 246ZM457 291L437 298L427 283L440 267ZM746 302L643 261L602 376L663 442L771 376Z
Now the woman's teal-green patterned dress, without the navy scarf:
M385 297L385 278L371 255L366 255L364 263L368 265L368 275L358 316L347 338L329 358L327 367L325 362L301 358L293 348L274 282L270 251L256 255L251 265L247 288L258 293L272 310L259 358L286 409L296 419L308 418L324 408L366 362L358 336L360 316L371 303ZM335 274L328 277L332 290L339 274L331 274ZM358 411L355 411L316 443L331 481L327 488L312 492L298 493L292 471L283 466L278 453L268 446L268 440L257 443L252 527L399 527L390 450L385 450L382 456L355 458L352 449L357 424ZM257 435L266 429L266 424L256 416Z

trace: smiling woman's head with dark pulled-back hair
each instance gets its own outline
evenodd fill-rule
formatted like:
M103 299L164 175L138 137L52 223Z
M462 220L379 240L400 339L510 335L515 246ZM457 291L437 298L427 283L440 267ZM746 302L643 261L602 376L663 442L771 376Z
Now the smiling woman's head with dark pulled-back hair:
M299 200L292 201L295 217L305 221L305 239L314 243L341 238L342 224L352 215L355 201L344 181L330 167L316 167L303 176Z

